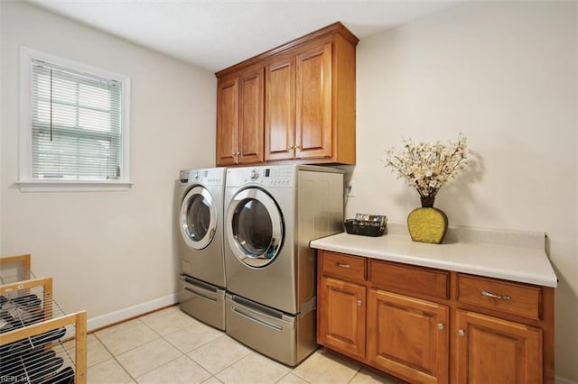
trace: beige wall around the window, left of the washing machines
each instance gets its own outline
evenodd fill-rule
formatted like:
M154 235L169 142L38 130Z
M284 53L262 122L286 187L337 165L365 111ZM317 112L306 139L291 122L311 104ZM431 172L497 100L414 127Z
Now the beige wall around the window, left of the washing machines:
M2 2L2 249L33 254L66 312L89 318L175 291L172 194L179 169L214 165L213 74L21 2ZM126 192L21 193L18 49L25 45L132 81Z

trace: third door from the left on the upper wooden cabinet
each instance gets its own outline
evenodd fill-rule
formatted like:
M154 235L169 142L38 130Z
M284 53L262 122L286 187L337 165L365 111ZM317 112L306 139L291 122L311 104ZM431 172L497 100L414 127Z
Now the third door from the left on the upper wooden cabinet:
M294 159L294 57L267 65L265 81L265 160Z

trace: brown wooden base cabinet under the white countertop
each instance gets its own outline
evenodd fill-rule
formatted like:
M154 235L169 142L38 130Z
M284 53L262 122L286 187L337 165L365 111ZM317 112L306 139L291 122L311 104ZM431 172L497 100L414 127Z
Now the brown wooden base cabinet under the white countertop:
M411 383L554 383L554 288L319 252L317 342Z

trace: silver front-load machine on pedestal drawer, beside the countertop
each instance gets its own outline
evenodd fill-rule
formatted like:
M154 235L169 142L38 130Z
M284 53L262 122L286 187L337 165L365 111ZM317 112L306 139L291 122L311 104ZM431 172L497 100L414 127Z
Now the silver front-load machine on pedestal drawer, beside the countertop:
M309 242L343 228L343 171L227 169L227 334L295 366L317 348L316 257Z

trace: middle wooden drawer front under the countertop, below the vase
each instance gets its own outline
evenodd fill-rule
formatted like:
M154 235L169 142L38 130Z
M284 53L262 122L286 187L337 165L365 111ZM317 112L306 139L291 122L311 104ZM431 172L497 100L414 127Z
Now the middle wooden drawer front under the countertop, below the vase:
M381 288L402 294L449 298L450 273L389 261L369 261L369 279Z

